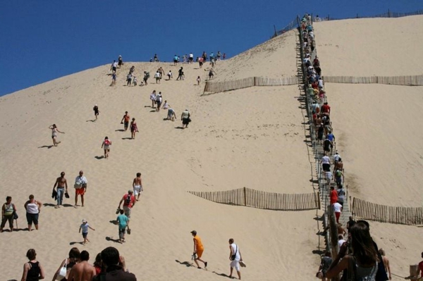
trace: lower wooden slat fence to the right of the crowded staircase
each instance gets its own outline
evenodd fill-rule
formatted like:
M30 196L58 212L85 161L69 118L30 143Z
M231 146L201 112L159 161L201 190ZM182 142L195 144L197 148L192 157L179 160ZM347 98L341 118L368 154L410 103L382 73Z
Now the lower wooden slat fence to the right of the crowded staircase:
M393 207L353 199L353 213L365 220L400 225L423 225L423 207Z

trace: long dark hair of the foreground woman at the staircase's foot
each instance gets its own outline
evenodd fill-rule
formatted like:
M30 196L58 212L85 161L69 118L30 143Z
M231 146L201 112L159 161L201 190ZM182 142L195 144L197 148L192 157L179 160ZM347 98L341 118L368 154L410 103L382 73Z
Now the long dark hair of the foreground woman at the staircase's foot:
M367 223L367 222L366 222ZM360 220L350 227L351 246L355 258L362 265L371 265L378 261L373 239L370 236L369 227Z

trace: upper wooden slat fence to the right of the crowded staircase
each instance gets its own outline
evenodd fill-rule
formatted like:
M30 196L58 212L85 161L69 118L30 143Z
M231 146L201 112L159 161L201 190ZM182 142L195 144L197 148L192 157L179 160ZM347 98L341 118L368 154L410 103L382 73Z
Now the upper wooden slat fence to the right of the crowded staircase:
M423 75L409 76L324 76L324 82L349 84L386 84L401 86L423 86Z

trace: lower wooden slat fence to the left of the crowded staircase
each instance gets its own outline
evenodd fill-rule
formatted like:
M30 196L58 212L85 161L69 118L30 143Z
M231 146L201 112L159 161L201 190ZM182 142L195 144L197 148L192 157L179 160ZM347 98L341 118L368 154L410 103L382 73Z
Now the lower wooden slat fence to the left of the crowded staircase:
M219 192L189 192L219 204L247 206L276 211L304 211L320 208L319 193L281 194L247 187Z

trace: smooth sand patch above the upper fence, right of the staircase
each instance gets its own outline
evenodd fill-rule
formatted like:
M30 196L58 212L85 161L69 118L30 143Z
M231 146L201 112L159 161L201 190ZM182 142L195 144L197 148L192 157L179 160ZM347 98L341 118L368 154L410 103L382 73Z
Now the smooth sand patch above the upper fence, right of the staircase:
M315 23L324 75L396 76L423 73L423 15Z

